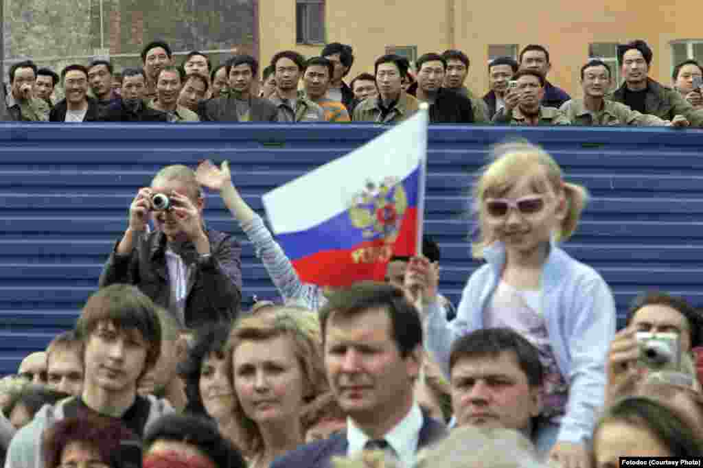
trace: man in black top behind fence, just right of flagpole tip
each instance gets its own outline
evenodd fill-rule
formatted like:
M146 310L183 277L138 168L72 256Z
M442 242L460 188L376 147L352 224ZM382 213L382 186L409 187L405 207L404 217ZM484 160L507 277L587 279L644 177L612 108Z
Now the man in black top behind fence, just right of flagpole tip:
M430 122L434 124L487 123L475 120L470 98L442 88L446 60L437 53L425 53L415 62L418 81L411 84L408 94L430 105Z

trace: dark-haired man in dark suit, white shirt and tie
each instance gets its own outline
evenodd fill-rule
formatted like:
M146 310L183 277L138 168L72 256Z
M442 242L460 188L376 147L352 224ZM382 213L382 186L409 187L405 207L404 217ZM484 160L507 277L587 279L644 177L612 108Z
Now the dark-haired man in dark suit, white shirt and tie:
M320 311L325 368L347 428L299 447L271 468L327 468L334 456L383 450L405 466L446 435L413 396L423 356L415 307L392 285L363 283L333 294Z

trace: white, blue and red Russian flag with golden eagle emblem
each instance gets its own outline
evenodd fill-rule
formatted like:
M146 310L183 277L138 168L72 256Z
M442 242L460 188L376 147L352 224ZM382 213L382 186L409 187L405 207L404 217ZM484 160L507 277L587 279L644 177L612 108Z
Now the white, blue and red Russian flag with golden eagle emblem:
M391 256L421 251L427 123L421 105L361 148L264 195L271 228L303 282L382 280Z

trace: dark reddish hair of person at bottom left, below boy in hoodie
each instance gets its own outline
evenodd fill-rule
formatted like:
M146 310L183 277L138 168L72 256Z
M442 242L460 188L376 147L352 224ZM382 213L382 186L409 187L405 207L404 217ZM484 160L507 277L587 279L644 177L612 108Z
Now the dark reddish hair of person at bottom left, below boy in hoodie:
M124 427L122 420L96 415L67 417L44 431L41 439L44 467L58 467L63 450L72 442L95 449L103 463L120 468L125 466L120 460L122 443L138 443L138 438Z

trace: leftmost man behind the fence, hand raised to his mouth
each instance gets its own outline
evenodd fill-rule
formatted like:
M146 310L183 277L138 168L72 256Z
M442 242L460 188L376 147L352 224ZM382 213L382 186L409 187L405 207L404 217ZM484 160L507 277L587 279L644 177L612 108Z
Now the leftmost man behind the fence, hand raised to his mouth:
M15 63L10 67L9 75L10 92L5 100L11 118L25 122L49 120L49 105L44 99L34 97L37 65L32 60Z

